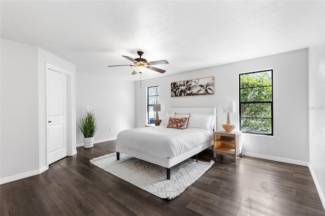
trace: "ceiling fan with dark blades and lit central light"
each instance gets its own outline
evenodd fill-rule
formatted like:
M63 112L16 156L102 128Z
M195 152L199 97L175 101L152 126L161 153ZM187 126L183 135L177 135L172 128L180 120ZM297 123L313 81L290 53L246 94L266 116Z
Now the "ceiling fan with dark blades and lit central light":
M151 65L155 65L155 64L168 64L169 62L166 61L166 60L159 60L159 61L147 61L147 59L144 59L144 58L141 58L141 56L143 55L143 52L142 51L138 51L137 52L138 55L140 56L140 58L131 58L131 57L128 57L128 56L124 56L122 55L124 58L127 58L128 60L132 61L134 64L122 64L122 65L110 65L108 67L115 67L115 66L133 66L134 67L134 70L132 72L132 75L135 75L135 74L141 74L143 72L145 72L147 69L150 69L150 70L154 70L154 71L157 71L159 73L165 73L166 70L163 70L163 69L159 69L157 67L153 67Z

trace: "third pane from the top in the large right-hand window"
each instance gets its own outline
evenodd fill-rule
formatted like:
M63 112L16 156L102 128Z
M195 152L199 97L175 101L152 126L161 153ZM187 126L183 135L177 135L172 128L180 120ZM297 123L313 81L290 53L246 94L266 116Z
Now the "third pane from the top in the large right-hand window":
M271 103L242 103L241 116L242 118L271 118Z

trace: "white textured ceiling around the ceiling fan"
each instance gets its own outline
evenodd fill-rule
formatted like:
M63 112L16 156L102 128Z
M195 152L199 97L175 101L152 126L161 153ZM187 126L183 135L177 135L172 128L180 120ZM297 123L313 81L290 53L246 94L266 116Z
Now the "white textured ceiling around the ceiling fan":
M1 37L38 46L77 73L131 75L137 50L167 76L306 48L317 42L324 1L1 1ZM320 40L320 39L319 39Z

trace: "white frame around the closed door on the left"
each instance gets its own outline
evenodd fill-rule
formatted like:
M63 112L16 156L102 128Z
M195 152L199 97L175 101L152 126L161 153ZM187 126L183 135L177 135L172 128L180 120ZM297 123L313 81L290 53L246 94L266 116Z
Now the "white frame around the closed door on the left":
M47 127L47 122L48 122L48 70L54 70L58 73L67 75L67 148L68 148L68 156L75 155L76 152L73 151L73 129L76 128L76 123L74 123L74 109L73 109L73 104L75 101L75 94L74 94L74 74L71 73L68 70L64 70L62 68L59 68L57 66L51 65L49 63L46 63L46 100L45 100L45 107L46 107L46 167L47 169L49 168L49 162L48 162L48 150L49 150L49 143L48 143L48 127Z

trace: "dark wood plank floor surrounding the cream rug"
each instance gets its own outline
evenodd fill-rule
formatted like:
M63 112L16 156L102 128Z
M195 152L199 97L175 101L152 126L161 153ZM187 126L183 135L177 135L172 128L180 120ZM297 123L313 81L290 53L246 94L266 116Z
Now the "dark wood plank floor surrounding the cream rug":
M217 158L174 200L160 199L92 165L115 141L77 149L44 173L0 186L5 215L325 215L307 167ZM212 150L199 154L212 160Z

